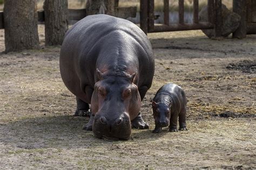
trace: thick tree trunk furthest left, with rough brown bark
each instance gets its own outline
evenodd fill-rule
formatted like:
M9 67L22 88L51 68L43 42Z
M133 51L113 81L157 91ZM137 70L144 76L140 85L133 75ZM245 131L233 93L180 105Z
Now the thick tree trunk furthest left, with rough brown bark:
M5 51L39 47L35 0L4 1Z

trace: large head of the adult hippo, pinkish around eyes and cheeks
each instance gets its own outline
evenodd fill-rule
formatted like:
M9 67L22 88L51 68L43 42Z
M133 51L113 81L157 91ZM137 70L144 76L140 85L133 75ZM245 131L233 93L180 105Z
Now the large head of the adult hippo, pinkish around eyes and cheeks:
M92 131L98 138L127 140L131 135L131 120L137 117L141 100L134 74L117 76L97 69L99 81L91 99L95 113Z

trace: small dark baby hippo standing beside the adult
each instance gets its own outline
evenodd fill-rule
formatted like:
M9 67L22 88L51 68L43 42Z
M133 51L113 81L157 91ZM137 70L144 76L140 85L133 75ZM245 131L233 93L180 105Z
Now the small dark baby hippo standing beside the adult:
M169 125L170 132L178 132L178 116L179 131L187 131L186 105L185 92L180 86L173 83L162 86L152 101L154 122L156 124L153 133L160 133L162 127Z

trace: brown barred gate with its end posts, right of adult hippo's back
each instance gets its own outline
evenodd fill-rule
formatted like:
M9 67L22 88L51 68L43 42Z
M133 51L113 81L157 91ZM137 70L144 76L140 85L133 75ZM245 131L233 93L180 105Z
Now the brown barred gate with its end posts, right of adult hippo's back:
M154 0L140 0L140 28L145 32L215 29L221 36L221 0L208 0L208 22L199 22L199 3L193 0L193 23L184 23L184 0L179 0L179 23L169 23L169 0L164 1L164 24L154 24Z

